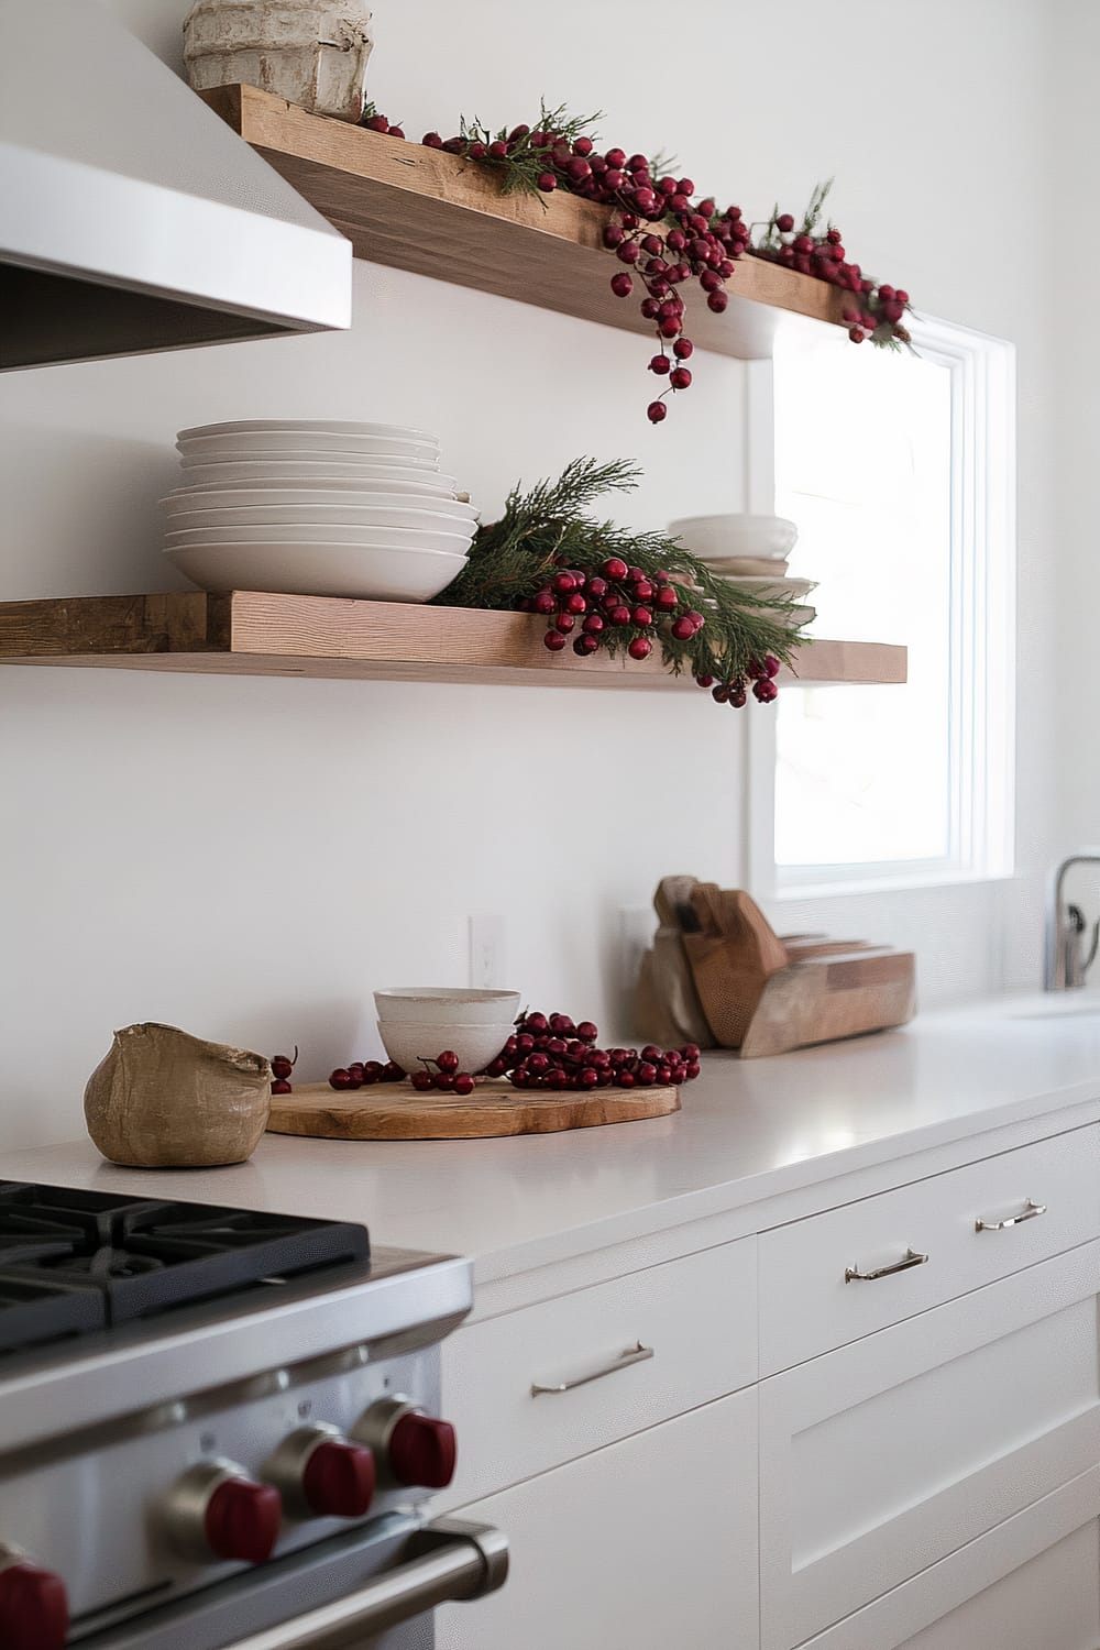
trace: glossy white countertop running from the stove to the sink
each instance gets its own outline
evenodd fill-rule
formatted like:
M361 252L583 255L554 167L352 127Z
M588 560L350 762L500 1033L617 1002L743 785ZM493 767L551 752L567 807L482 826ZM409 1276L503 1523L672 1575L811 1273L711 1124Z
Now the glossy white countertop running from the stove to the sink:
M79 1138L0 1153L0 1175L364 1221L379 1244L472 1256L490 1282L1082 1102L1100 1102L1100 995L1067 993L773 1059L709 1054L683 1110L650 1122L508 1140L267 1135L216 1170L115 1168Z

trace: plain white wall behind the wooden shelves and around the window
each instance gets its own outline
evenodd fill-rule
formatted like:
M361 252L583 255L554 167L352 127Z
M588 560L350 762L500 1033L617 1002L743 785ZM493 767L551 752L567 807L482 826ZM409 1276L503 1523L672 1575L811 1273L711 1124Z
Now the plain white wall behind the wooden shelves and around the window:
M186 0L114 8L178 58ZM374 23L371 96L412 135L460 111L521 119L546 94L605 109L607 142L675 145L754 216L777 195L797 210L836 173L834 213L866 267L1016 340L1026 874L863 901L828 924L915 939L925 1000L1026 978L1054 784L1052 318L991 226L1021 201L1036 244L1052 221L1047 7L867 5L838 26L810 0L686 0L675 20L653 0L379 0ZM490 512L516 477L582 450L645 464L627 521L740 507L742 368L699 360L653 431L646 353L360 264L350 335L8 375L0 596L178 582L155 500L175 431L219 417L425 424ZM615 1016L618 908L645 904L666 871L739 878L740 741L704 695L0 672L5 1143L78 1132L84 1077L132 1020L269 1051L299 1041L320 1076L374 1046L373 985L462 978L475 911L508 914L508 974L533 1002Z

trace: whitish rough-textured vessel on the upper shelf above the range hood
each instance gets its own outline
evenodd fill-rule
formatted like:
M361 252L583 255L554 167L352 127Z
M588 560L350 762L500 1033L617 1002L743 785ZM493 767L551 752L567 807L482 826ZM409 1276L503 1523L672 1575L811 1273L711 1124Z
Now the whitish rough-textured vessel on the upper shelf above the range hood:
M366 0L198 0L183 23L195 91L259 86L336 120L363 116L373 46Z

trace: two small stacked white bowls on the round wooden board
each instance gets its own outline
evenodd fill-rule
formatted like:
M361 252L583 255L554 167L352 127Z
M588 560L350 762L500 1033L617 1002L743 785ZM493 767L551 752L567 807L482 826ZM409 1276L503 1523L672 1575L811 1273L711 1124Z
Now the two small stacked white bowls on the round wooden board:
M519 992L411 985L374 992L378 1035L391 1059L409 1074L435 1071L437 1054L458 1056L458 1069L482 1071L513 1035Z

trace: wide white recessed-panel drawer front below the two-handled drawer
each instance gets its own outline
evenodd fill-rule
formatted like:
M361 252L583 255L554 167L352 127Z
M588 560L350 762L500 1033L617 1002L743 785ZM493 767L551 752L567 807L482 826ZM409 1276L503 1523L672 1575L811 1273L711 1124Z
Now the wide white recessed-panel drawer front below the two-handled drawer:
M1100 1460L1100 1241L760 1383L760 1620L792 1650Z

